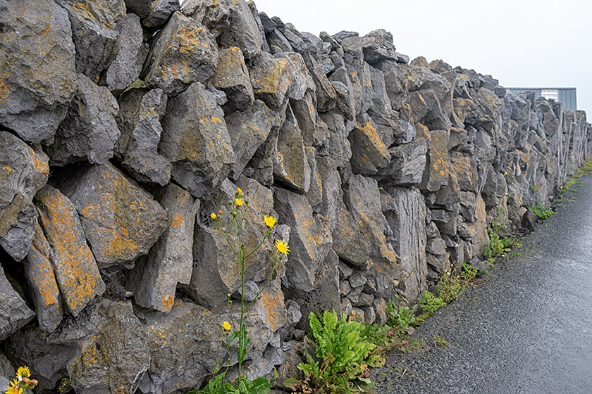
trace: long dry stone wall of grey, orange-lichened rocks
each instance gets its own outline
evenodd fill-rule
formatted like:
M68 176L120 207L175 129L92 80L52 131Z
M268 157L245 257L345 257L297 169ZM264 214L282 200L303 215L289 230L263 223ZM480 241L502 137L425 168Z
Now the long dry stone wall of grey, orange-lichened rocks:
M409 61L384 30L316 37L244 0L2 0L0 375L202 384L240 297L209 214L237 187L247 248L263 215L290 246L247 318L248 373L287 374L309 312L384 322L479 266L488 223L531 226L591 139L585 113ZM245 298L270 269L247 259Z

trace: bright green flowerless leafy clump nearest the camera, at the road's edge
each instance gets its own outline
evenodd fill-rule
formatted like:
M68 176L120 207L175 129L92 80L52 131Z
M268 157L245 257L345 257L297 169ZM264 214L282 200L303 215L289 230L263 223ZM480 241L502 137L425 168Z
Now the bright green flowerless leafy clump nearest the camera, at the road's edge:
M304 381L284 381L292 389L300 388L304 393L352 393L364 392L354 381L369 385L365 376L369 367L369 356L376 344L370 335L373 329L361 322L347 321L337 312L323 313L319 320L314 313L309 314L310 333L316 350L315 357L307 352L307 362L298 364L305 376Z

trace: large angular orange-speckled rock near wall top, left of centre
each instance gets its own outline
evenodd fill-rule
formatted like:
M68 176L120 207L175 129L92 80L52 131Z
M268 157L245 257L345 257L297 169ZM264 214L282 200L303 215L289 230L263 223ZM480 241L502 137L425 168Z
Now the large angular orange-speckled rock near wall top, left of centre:
M201 23L175 12L150 49L142 74L148 85L179 94L211 77L217 64L214 36Z

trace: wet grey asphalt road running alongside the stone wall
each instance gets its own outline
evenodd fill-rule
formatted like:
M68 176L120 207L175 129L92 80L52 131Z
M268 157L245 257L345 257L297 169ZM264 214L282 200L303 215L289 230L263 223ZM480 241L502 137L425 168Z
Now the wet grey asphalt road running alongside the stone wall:
M425 350L373 370L376 393L592 393L592 177L580 180L519 256L419 327Z

